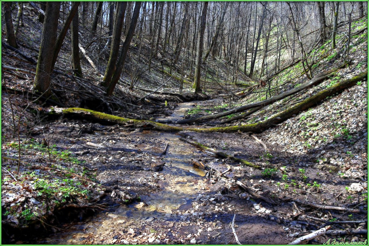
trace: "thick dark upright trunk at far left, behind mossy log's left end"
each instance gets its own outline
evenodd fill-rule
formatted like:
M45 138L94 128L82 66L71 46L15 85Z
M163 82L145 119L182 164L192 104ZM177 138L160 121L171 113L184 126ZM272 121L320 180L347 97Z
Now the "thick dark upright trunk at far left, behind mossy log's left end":
M38 61L34 82L34 91L45 92L45 96L51 94L49 87L51 74L54 69L52 63L55 51L56 31L61 2L47 2L44 26L42 28L41 44L38 52Z

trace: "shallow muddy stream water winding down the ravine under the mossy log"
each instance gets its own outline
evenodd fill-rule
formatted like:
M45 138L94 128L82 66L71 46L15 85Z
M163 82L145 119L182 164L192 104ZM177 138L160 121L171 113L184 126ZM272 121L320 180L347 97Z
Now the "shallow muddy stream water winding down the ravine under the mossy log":
M183 117L186 110L194 103L179 104L173 114L166 119L176 121ZM114 240L117 232L128 232L130 228L147 229L151 220L168 222L173 220L172 212L178 209L187 210L192 207L191 202L198 195L200 189L205 189L203 178L205 172L192 165L191 159L198 159L202 152L192 145L179 140L173 133L160 133L154 131L132 132L134 137L156 138L161 142L168 142L169 146L163 161L166 162L163 171L149 175L159 178L159 190L155 193L141 196L140 203L118 205L110 208L108 212L100 212L84 221L65 225L68 231L49 235L48 238L35 239L37 243L47 244L88 244L90 238ZM144 204L144 206L142 206ZM103 243L112 243L102 241Z

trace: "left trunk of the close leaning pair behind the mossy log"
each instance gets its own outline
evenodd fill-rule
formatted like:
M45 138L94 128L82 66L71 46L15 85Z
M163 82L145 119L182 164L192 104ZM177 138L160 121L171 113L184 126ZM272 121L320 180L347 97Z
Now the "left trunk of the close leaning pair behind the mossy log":
M101 83L104 87L108 87L115 70L115 63L117 62L119 55L120 38L122 35L123 19L126 8L127 2L117 2L114 16L113 37L111 38L110 56L106 66L105 76Z

